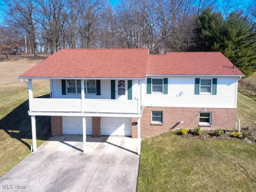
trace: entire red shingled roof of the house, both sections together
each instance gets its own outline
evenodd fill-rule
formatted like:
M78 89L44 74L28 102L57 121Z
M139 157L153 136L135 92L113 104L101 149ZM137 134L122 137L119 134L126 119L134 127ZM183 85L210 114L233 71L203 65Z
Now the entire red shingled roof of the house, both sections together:
M221 52L62 49L19 78L145 78L147 75L243 75Z

